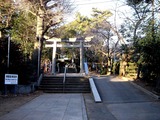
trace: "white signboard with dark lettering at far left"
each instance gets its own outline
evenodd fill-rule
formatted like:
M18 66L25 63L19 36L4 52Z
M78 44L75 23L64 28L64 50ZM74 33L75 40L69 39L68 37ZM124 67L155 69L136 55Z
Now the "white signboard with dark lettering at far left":
M18 75L17 74L5 74L5 84L6 85L17 85Z

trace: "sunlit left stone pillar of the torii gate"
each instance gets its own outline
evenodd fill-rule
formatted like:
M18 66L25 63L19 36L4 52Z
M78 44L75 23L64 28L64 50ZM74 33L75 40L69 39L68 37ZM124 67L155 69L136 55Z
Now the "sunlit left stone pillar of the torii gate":
M57 50L57 41L54 41L53 52L52 52L52 74L56 74L56 50Z

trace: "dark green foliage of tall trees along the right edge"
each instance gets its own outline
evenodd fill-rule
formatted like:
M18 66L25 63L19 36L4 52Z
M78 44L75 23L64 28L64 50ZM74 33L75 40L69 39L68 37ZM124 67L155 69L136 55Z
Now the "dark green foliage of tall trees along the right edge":
M158 1L126 0L133 9L133 17L127 18L122 27L123 35L132 42L132 50L128 52L131 59L141 68L143 79L146 81L159 79L160 40L157 16ZM124 28L124 29L123 29ZM128 33L130 35L127 35Z

